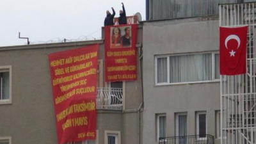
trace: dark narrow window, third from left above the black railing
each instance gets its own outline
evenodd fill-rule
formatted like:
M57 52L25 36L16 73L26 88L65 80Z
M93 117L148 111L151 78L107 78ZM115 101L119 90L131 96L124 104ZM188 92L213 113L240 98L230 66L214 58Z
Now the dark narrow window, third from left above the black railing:
M199 138L206 138L206 112L196 112L196 135Z

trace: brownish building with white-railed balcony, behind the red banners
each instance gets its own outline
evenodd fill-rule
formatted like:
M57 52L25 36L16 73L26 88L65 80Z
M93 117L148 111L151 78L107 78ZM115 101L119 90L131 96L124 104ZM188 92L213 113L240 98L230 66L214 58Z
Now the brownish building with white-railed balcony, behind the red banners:
M90 44L99 44L97 140L77 143L138 143L140 68L137 81L105 83L104 40L0 47L0 143L58 143L48 54Z

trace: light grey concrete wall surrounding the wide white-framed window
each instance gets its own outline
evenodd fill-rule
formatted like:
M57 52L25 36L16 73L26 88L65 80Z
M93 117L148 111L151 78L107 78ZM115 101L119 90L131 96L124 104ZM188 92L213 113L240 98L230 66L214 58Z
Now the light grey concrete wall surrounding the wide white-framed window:
M220 110L220 82L156 86L154 84L154 56L218 51L218 24L218 17L144 23L144 144L157 143L157 113L166 113L166 136L175 136L175 113L187 113L188 135L195 135L195 113L206 111L207 134L215 136L215 111Z

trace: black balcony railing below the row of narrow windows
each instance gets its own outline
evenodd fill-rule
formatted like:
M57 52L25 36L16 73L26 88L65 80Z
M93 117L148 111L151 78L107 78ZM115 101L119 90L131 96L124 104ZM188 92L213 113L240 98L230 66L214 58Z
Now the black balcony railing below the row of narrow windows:
M214 144L214 136L193 135L159 138L159 144Z

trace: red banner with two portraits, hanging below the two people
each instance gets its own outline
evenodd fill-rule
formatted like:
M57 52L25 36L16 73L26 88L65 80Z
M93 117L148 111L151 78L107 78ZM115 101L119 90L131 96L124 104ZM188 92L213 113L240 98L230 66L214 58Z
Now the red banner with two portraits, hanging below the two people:
M137 24L105 26L105 80L137 79Z

